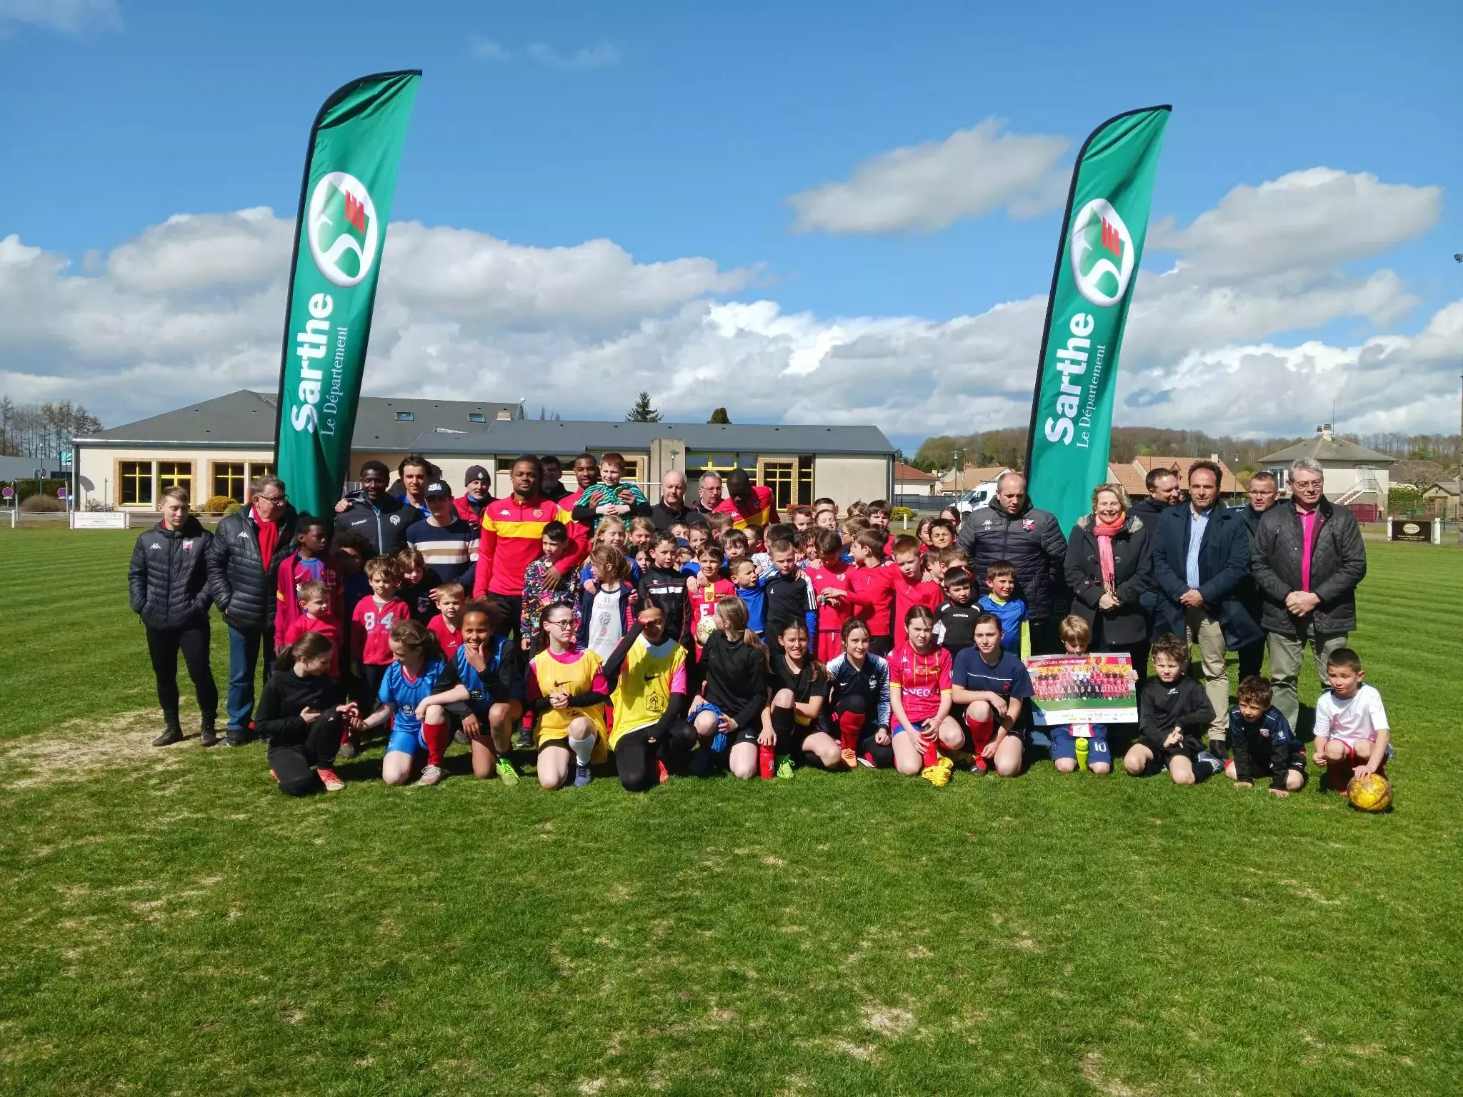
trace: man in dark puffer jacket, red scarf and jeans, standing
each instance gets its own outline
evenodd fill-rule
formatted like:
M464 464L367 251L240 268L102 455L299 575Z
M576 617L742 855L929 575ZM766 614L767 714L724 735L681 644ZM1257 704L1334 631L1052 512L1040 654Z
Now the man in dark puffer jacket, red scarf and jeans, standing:
M250 737L260 648L265 679L274 670L279 565L293 551L296 524L279 480L260 477L249 491L249 506L218 524L208 550L214 604L228 626L228 746L241 746Z

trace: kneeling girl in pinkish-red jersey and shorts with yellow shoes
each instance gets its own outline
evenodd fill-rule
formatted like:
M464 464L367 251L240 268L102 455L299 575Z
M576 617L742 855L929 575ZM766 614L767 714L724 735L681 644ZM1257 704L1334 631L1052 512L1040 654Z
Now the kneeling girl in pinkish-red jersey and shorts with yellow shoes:
M954 764L939 756L939 747L964 746L966 733L949 715L951 658L935 644L935 614L923 606L904 616L909 641L890 657L890 731L894 736L894 764L901 774L917 772L942 787ZM941 771L941 772L935 772Z

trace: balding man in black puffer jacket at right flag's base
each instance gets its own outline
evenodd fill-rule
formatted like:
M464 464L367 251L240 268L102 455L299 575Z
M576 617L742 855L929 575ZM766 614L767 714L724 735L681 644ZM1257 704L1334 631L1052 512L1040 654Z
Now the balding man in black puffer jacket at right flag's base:
M970 573L988 594L986 569L996 560L1015 565L1017 594L1026 601L1031 625L1031 654L1062 651L1056 625L1067 610L1062 568L1067 537L1056 515L1031 506L1026 477L1004 472L989 506L971 510L960 527L960 547L970 559Z

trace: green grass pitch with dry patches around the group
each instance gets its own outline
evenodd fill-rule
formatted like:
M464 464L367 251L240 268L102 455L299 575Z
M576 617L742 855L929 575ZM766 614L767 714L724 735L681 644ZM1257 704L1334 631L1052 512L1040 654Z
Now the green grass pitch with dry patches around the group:
M1463 1090L1457 550L1369 548L1366 816L1045 761L543 793L461 747L290 800L260 746L146 747L135 535L0 531L0 1093Z

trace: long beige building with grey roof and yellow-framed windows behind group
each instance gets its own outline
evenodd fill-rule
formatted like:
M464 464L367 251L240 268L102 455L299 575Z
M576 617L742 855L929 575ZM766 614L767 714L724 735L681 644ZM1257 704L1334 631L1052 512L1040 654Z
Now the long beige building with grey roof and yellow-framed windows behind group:
M772 489L778 506L831 496L841 503L890 497L894 446L878 427L710 423L593 423L521 420L516 404L363 396L356 417L351 470L376 458L396 468L420 453L455 489L470 465L494 474L505 496L508 470L521 453L575 455L619 451L626 478L658 484L674 468L695 480L704 471L745 468ZM75 439L78 506L101 503L152 510L162 489L186 484L195 503L211 496L244 502L249 483L272 474L275 395L241 389L177 411Z

